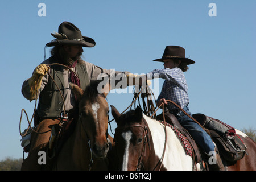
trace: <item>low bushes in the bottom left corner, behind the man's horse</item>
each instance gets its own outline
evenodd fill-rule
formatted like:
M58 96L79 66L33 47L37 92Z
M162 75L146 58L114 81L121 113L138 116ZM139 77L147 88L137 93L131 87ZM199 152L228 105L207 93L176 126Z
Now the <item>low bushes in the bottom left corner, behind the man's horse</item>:
M20 171L23 159L13 159L6 157L0 161L0 171Z

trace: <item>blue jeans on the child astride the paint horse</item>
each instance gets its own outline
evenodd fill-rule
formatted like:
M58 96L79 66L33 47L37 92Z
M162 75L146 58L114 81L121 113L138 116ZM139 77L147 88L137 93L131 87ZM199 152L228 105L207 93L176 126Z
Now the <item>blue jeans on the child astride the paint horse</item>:
M185 106L183 110L191 115L188 106ZM202 150L209 154L210 151L214 151L214 144L212 142L212 138L210 135L206 133L201 126L199 126L195 121L189 118L187 115L180 111L179 113L175 114L177 120L180 124L188 130L189 134L191 134L192 138L196 141L196 143L202 148ZM191 115L192 117L192 115Z

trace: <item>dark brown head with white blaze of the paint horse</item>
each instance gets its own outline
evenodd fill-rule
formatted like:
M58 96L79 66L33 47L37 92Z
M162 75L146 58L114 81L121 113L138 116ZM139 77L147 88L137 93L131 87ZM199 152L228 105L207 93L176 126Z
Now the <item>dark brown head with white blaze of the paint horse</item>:
M115 122L117 122L114 141L119 168L128 171L143 169L149 154L150 137L141 107L120 114L114 106L110 106Z

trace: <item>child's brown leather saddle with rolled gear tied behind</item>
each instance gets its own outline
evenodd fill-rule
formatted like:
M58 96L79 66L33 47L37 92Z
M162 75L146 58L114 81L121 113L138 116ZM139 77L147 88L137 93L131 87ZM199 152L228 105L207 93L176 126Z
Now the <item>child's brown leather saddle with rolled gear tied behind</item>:
M195 154L195 162L201 162L203 159L201 153L203 154L203 152L200 152L201 150L197 146L195 140L193 140L188 131L180 125L175 115L171 113L164 113L164 117L166 122L170 123L170 125L174 126L185 137L187 137L193 148L193 154ZM226 123L218 119L207 117L206 115L200 113L193 114L192 117L196 119L196 121L199 122L204 129L209 131L208 134L212 137L213 142L216 143L218 149L220 150L221 156L226 161L236 162L247 154L245 144L241 138L236 135L236 131L233 127L226 125ZM156 119L163 121L163 114L156 116Z

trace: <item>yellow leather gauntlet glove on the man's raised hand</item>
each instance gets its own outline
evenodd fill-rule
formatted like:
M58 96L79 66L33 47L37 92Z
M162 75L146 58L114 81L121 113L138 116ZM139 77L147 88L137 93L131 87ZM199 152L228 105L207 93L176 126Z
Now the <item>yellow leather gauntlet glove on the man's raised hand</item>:
M46 64L40 64L35 68L32 77L28 79L28 85L30 86L30 101L35 99L36 93L41 88L42 79L48 71L49 66Z

